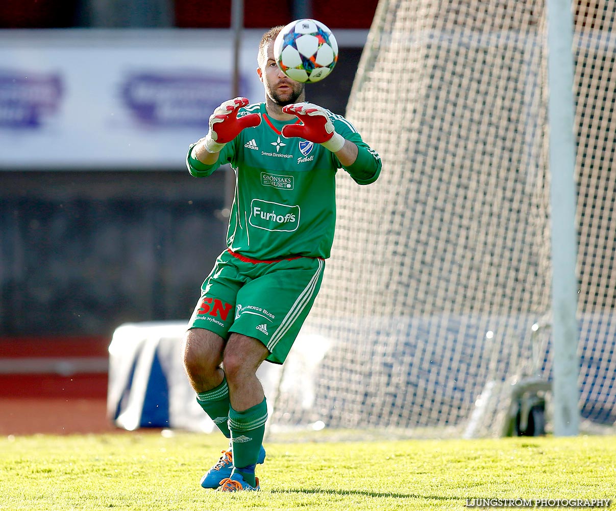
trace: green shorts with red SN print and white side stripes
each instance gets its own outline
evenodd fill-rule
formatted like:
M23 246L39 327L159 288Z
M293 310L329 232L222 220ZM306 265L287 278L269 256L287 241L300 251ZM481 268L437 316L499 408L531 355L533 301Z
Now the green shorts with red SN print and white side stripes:
M282 364L317 297L325 261L296 257L256 261L225 250L201 286L188 328L225 340L231 332L261 341L269 362Z

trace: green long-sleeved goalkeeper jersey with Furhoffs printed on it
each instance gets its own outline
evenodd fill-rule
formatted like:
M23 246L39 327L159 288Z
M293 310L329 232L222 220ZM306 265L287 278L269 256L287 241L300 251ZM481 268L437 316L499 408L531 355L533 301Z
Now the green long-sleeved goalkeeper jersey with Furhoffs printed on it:
M349 121L329 111L336 132L357 144L357 160L351 166L343 167L320 144L285 138L283 126L299 120L272 119L264 103L240 108L238 117L248 113L259 113L261 124L243 129L222 148L214 165L192 158L197 142L190 145L186 160L188 171L197 178L225 163L235 171L227 247L256 260L328 258L336 223L336 171L344 168L358 184L370 184L381 172L381 158Z

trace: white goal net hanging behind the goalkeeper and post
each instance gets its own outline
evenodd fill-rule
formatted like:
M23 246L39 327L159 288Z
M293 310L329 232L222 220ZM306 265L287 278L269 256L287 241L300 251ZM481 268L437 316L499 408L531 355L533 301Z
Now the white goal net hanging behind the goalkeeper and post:
M616 420L616 2L573 3L590 427ZM383 173L367 187L340 173L333 256L302 330L318 362L291 361L272 423L501 435L516 389L546 390L547 54L544 0L379 2L346 117ZM291 382L302 374L308 392Z

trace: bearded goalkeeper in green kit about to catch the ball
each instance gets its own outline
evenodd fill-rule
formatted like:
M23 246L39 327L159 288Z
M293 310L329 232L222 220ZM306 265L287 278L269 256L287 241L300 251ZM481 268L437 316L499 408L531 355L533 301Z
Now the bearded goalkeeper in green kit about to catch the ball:
M273 46L281 28L259 45L265 102L225 101L186 160L197 178L230 163L237 180L228 248L203 282L184 342L197 401L229 438L201 478L219 491L259 489L267 404L256 371L285 361L317 296L334 237L336 171L358 184L381 171L349 121L306 103L304 84L280 71Z

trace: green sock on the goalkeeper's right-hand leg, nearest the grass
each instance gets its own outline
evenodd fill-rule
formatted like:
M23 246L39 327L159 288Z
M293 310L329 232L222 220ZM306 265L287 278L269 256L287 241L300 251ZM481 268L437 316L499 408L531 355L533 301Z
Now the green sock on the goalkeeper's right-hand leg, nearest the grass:
M267 420L267 403L261 403L243 412L229 407L229 429L233 445L233 469L240 472L246 483L255 486L254 465L257 463Z

